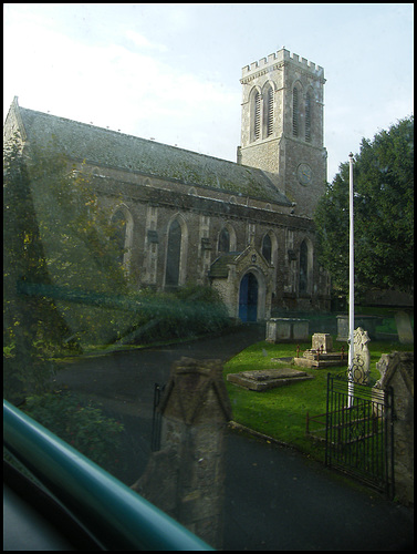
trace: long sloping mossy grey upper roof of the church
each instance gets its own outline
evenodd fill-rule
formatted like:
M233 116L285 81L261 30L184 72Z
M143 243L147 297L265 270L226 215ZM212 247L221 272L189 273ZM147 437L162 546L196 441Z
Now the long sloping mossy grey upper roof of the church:
M48 144L53 138L58 150L72 160L85 160L90 164L177 179L189 185L220 189L284 206L291 205L286 196L261 170L17 107L30 143Z

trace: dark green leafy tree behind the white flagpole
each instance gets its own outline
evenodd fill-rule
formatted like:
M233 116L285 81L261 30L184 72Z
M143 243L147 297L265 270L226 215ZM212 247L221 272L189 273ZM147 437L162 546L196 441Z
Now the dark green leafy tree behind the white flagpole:
M355 293L411 291L414 285L414 117L398 121L354 156ZM319 259L348 290L348 162L315 212Z

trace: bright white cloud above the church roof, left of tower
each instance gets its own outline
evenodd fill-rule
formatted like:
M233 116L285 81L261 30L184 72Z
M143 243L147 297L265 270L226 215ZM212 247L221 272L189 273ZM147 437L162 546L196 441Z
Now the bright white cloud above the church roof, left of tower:
M7 44L13 43L14 31L8 29ZM219 157L229 152L229 158L236 158L238 143L227 144L227 140L239 125L238 89L178 72L152 55L153 49L163 49L160 44L135 31L126 34L144 47L142 51L116 43L88 45L46 28L34 32L24 21L19 33L25 40L15 41L10 54L4 54L7 110L18 95L23 107L145 138L155 136ZM219 122L225 130L221 136Z

